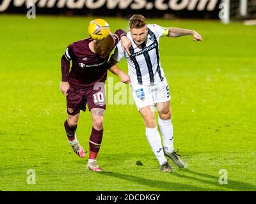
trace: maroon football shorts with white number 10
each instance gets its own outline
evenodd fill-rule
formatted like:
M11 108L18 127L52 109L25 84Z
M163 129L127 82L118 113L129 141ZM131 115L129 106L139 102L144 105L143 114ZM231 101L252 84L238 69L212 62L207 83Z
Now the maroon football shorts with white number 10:
M89 111L92 108L102 108L106 110L106 93L105 87L90 87L77 89L70 87L67 96L67 113L76 115L80 110L86 110L86 104Z

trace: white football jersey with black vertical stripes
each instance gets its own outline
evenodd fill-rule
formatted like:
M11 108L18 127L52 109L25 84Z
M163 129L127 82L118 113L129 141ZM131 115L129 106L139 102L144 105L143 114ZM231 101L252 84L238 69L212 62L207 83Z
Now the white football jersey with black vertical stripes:
M132 42L131 56L124 52L119 42L112 59L119 62L125 57L128 63L128 75L131 82L142 85L154 85L164 80L164 71L159 59L159 38L164 36L164 28L156 24L148 24L147 40L137 46L132 40L131 33L127 33L127 38Z

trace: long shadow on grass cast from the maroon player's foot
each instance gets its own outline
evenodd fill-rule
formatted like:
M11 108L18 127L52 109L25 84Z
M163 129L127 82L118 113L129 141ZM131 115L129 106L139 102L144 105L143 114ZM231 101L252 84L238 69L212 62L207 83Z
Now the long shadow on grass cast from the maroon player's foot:
M104 171L102 174L108 177L115 177L117 179L128 180L131 182L136 182L143 186L152 187L154 189L158 188L158 190L162 191L212 191L213 189L207 189L203 187L181 184L177 182L167 182L163 180L153 180L153 179L145 179L141 177L137 177L134 175L127 175L122 173L115 173L110 171ZM150 189L145 189L145 191L151 191Z

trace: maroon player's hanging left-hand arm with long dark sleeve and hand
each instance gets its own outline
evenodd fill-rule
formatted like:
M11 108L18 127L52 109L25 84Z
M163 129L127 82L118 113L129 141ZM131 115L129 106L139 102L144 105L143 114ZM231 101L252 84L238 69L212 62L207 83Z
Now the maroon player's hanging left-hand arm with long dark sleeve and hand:
M65 55L61 57L61 82L60 90L64 96L68 95L70 85L68 83L68 74L69 74L70 63L66 59Z

